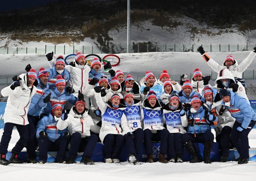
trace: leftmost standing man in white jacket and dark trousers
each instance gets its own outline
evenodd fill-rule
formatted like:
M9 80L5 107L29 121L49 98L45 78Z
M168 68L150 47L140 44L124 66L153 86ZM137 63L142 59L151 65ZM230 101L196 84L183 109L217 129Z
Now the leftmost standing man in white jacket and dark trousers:
M27 74L21 74L12 78L16 81L2 89L1 94L6 97L7 104L4 110L4 132L0 142L0 164L23 163L17 156L28 142L28 108L30 101L36 93L36 70L30 69ZM36 81L36 83L35 83ZM33 84L36 84L33 85ZM12 129L16 126L20 139L12 148L10 160L6 160L7 148L11 140Z

